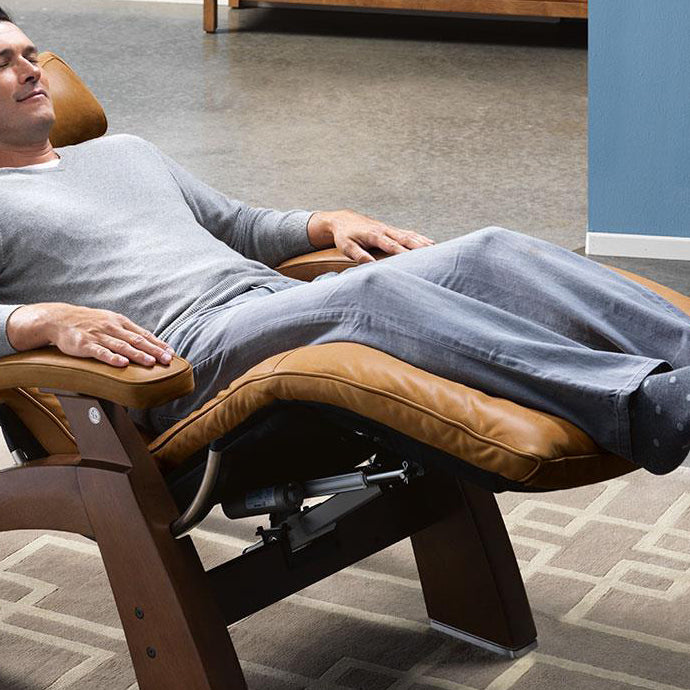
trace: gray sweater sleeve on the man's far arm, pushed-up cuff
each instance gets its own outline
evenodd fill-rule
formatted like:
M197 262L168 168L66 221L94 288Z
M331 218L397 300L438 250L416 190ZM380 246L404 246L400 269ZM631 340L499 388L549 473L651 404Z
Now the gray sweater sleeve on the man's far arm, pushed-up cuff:
M197 222L235 251L273 268L293 256L316 250L307 235L307 223L313 212L255 208L230 199L156 146L146 143L165 163Z

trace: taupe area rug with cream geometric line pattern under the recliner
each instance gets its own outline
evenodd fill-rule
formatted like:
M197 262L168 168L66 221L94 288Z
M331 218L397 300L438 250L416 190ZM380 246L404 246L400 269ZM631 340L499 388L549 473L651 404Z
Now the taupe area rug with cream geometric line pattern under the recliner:
M239 622L252 690L688 690L690 469L552 494L499 496L539 631L510 661L426 622L409 540ZM259 520L213 513L207 566ZM0 688L137 688L96 547L0 535Z

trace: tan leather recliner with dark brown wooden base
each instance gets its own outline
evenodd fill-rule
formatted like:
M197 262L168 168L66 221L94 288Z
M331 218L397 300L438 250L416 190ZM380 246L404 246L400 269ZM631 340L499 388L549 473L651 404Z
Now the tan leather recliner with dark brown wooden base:
M40 62L53 145L102 135L84 84L57 56ZM278 270L310 280L351 265L331 249ZM690 314L690 298L621 272ZM17 464L0 474L0 530L98 543L142 690L246 688L228 625L408 536L431 625L524 654L536 630L493 493L636 469L567 421L354 343L270 357L159 436L128 415L193 387L179 357L119 369L47 347L0 359ZM266 527L204 571L185 535L218 504Z

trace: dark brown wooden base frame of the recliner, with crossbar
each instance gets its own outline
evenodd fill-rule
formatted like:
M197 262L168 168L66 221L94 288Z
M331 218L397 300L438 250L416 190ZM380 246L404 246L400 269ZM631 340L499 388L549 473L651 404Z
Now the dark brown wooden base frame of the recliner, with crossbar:
M408 536L435 628L508 656L536 644L490 492L426 474L296 553L276 541L204 571L191 539L172 536L179 511L126 409L52 392L79 453L2 472L0 530L55 529L97 542L142 690L246 688L227 625Z

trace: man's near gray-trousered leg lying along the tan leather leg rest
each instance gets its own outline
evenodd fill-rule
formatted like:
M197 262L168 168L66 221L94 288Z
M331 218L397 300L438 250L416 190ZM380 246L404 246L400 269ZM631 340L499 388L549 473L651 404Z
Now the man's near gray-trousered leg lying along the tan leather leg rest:
M386 262L200 313L169 339L194 365L196 390L151 421L169 426L271 355L349 341L569 419L631 457L628 397L661 358L594 350Z

